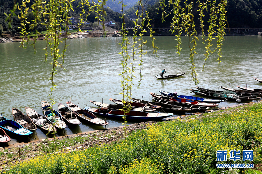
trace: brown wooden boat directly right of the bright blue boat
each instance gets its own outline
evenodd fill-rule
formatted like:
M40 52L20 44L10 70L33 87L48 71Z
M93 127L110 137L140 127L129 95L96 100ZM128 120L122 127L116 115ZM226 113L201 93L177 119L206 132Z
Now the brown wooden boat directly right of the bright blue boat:
M15 121L21 124L24 128L30 131L36 130L36 125L32 122L31 118L27 115L24 115L20 110L17 108L12 108L12 114L15 118Z

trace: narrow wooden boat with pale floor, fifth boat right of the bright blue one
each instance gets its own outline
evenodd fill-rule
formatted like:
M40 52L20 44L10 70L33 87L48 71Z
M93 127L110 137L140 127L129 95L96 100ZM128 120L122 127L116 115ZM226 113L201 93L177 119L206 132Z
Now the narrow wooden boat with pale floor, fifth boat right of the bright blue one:
M62 103L58 104L58 111L62 115L63 120L67 124L71 124L71 125L81 124L79 119L77 119L75 113L72 112L72 110L69 111L68 107L65 107L65 105L63 105Z

